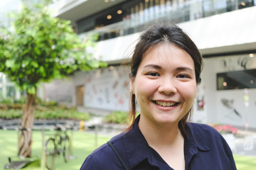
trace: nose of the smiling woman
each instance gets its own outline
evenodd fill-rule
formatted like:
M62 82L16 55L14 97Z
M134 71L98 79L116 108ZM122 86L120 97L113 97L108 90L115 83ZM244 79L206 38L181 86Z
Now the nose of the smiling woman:
M175 80L171 77L161 77L159 82L159 93L164 95L174 95L177 92Z

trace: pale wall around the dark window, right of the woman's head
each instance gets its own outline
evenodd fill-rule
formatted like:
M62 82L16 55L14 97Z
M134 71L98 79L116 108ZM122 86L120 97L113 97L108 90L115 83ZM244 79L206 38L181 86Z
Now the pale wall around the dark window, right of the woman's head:
M226 123L241 127L245 126L245 123L248 123L250 128L256 128L256 89L248 89L250 99L247 104L244 98L246 95L245 89L218 91L216 87L216 74L243 70L244 68L239 61L245 58L248 60L246 69L255 69L256 57L249 57L248 55L205 59L205 75L203 81L206 84L205 95L208 122ZM229 102L230 107L227 107L223 103L223 100ZM239 113L240 116L235 112Z

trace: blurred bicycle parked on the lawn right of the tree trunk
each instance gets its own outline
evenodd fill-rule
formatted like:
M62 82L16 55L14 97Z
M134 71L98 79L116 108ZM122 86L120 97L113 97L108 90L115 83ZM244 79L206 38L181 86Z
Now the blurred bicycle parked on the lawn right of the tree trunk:
M63 154L64 162L68 162L71 154L71 141L67 129L63 125L55 126L55 134L46 141L46 168L53 169L57 155Z

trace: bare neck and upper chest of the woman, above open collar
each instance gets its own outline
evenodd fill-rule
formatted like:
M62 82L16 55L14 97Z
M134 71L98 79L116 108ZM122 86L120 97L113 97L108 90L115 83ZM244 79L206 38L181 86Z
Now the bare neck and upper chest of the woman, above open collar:
M159 125L140 118L139 129L146 142L174 169L185 169L184 138L178 123Z

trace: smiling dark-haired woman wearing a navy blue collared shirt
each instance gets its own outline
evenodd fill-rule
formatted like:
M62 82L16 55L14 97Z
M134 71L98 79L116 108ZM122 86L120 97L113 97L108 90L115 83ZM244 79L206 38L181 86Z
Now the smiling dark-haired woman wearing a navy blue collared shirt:
M181 28L159 24L142 33L129 74L132 124L112 144L92 152L81 170L236 169L218 131L187 122L202 64L198 48ZM135 119L136 103L140 115Z

